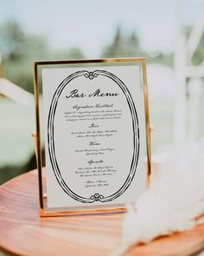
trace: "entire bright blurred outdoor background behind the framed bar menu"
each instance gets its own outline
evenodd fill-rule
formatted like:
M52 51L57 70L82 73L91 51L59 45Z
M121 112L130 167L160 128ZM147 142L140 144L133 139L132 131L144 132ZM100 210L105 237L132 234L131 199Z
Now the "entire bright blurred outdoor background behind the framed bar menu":
M204 136L204 1L0 0L0 183L35 167L32 62L145 56L154 161Z

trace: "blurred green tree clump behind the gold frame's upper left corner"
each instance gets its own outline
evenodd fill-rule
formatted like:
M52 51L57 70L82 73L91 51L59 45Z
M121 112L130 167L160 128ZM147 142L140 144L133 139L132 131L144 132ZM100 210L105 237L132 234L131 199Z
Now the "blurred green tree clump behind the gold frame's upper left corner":
M33 92L32 62L84 58L77 48L50 49L47 36L30 35L16 22L4 23L0 27L0 54L3 75L30 92Z

